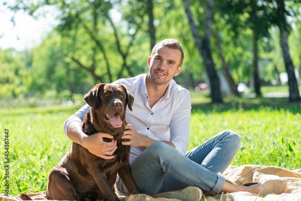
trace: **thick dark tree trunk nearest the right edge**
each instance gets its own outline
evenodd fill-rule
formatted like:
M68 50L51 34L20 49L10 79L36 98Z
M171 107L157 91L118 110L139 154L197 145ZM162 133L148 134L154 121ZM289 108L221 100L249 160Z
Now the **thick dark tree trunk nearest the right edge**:
M290 52L289 52L289 47L288 47L288 32L285 29L285 8L284 8L284 1L279 0L277 1L278 5L278 14L279 17L281 18L280 22L278 23L279 30L280 30L280 44L281 44L281 49L283 53L283 59L284 59L284 64L285 64L285 69L288 75L288 86L289 86L289 92L290 92L290 97L289 101L290 102L297 102L300 101L300 94L298 90L298 84L297 84L297 79L294 71L294 65L293 61L290 58Z

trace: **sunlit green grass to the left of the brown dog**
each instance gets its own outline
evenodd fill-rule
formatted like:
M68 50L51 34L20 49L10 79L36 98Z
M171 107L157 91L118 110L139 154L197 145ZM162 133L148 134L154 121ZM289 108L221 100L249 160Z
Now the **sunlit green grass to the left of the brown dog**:
M9 130L10 195L45 190L50 169L57 165L72 143L63 132L63 124L78 108L55 105L13 111L0 109L2 167L5 129ZM1 168L0 193L4 193L4 177Z

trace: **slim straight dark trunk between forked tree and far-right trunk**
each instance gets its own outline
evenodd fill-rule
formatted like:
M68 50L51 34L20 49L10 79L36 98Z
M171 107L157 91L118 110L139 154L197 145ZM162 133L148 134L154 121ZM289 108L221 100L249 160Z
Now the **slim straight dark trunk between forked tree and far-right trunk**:
M254 76L254 88L256 96L262 96L260 93L260 80L259 80L259 72L258 72L258 43L257 43L257 33L255 29L253 30L253 53L254 53L254 68L253 68L253 76Z

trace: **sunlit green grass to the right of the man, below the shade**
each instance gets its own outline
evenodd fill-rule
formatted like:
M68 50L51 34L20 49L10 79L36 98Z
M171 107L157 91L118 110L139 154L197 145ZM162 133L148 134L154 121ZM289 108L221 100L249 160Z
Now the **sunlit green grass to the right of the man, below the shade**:
M286 169L301 167L301 115L285 110L193 111L188 149L222 130L241 138L233 165L268 165Z

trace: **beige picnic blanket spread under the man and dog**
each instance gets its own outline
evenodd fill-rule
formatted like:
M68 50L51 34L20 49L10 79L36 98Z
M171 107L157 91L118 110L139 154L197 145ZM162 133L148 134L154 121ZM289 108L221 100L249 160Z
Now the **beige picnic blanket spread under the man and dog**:
M301 201L301 169L286 170L275 166L261 166L261 165L230 165L223 173L226 181L231 184L241 185L247 182L264 181L271 177L284 177L288 181L288 190L281 195L270 194L265 197L257 197L254 193L236 192L218 195L215 197L206 196L207 201ZM145 194L130 195L127 197L119 197L122 201L176 201L177 199L164 198L165 193L157 194L153 197ZM28 193L32 199L47 200L45 191L39 193ZM18 196L4 196L0 195L0 201L19 201ZM201 199L204 201L205 198Z

